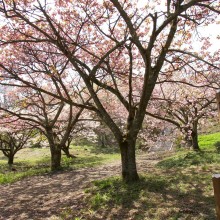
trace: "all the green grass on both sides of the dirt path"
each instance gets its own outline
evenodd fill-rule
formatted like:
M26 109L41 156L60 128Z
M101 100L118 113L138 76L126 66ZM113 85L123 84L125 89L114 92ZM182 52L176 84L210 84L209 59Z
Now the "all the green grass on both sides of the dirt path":
M220 173L220 154L214 144L220 133L199 138L202 152L178 151L141 173L139 182L127 185L120 177L93 182L85 190L80 209L66 208L63 220L79 219L215 219L212 173ZM91 167L119 159L108 148L73 147L75 159L63 157L64 169ZM150 161L150 160L149 160ZM0 155L0 183L50 172L49 149L23 149L15 158L16 172L8 170Z

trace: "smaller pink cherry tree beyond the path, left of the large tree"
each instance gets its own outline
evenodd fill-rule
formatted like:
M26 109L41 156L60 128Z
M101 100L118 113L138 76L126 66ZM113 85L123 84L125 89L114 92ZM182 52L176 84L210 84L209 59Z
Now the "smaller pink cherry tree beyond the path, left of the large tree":
M77 109L30 88L19 88L10 106L0 109L38 129L47 138L51 152L51 170L61 168L61 150L68 156L72 132L83 108ZM4 116L4 114L3 114Z

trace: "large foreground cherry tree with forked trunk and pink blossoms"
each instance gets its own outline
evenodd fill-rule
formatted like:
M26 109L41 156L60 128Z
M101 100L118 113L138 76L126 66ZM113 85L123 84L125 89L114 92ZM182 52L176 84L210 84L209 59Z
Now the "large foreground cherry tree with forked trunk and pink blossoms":
M0 12L4 18L2 33L5 33L0 41L3 56L0 68L5 80L2 83L7 84L6 79L13 78L23 86L39 88L39 83L30 83L20 74L20 70L28 72L30 68L25 50L31 48L37 57L45 57L41 48L50 48L46 50L47 57L56 56L70 66L68 77L60 75L60 78L78 76L92 101L77 103L68 96L57 79L54 81L57 70L54 65L51 67L53 88L62 89L53 93L54 90L41 87L41 92L96 112L118 142L122 176L127 182L139 179L135 145L158 77L161 74L169 77L172 70L191 68L195 62L199 63L198 68L193 66L196 74L203 74L201 66L207 66L209 72L219 69L218 52L213 59L206 52L210 46L207 38L200 39L203 54L195 53L192 46L198 27L216 20L218 1L146 1L140 7L137 1L125 0L4 0ZM185 62L178 63L179 59ZM32 71L28 74L31 80L35 78ZM103 90L115 96L116 102L126 109L123 129L106 109L101 96Z

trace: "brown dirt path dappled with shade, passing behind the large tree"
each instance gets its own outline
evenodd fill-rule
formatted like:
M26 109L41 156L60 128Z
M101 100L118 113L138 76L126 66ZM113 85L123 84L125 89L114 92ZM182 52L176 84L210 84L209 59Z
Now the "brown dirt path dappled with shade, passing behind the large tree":
M138 170L144 172L157 158L138 157ZM80 208L78 202L91 181L120 174L120 161L53 175L34 176L13 184L0 185L1 220L56 219L64 207Z

